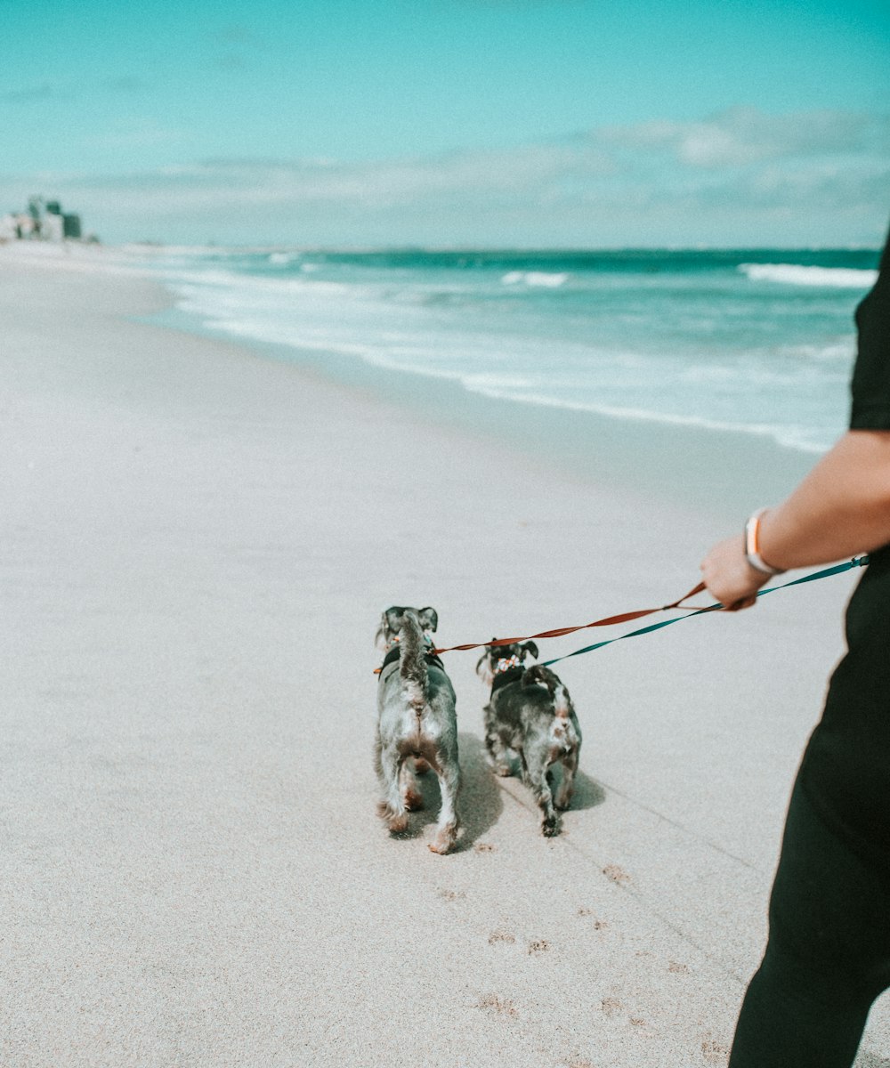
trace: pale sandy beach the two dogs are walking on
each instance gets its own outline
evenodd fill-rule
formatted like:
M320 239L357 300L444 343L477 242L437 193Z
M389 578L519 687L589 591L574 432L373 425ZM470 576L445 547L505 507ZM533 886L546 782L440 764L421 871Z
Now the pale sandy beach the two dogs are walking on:
M580 415L564 450L498 433L508 400L486 424L171 302L138 256L0 248L0 1064L724 1065L856 574L558 665L583 748L553 839L447 654L449 857L434 784L406 837L376 816L374 632L389 604L454 645L674 601L775 499L758 471L775 494L808 461L603 422L588 465ZM887 1065L885 995L857 1066Z

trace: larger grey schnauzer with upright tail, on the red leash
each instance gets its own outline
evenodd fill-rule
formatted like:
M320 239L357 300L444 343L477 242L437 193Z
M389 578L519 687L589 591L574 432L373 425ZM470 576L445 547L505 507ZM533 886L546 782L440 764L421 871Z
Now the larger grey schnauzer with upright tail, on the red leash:
M408 812L423 805L415 772L436 772L442 805L430 848L448 853L459 827L460 767L454 688L428 638L437 625L432 608L393 607L382 614L376 644L386 656L377 682L374 767L381 795L378 811L392 834L405 831Z

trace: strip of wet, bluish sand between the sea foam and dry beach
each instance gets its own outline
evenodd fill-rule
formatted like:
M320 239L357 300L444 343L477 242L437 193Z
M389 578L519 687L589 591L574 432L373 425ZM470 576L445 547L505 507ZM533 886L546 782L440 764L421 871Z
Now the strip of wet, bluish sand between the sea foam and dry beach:
M357 357L244 337L207 326L175 304L145 321L243 345L372 400L394 404L441 427L505 446L564 477L606 485L618 493L652 497L661 506L692 507L718 523L738 525L740 515L749 515L764 501L782 500L821 455L782 445L766 434L493 397L453 380L395 371Z

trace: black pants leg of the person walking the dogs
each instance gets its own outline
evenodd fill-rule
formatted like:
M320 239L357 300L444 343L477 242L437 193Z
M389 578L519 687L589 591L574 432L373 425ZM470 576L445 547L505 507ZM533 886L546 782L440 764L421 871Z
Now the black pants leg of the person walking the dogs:
M798 781L729 1068L850 1068L890 987L890 875L825 826ZM890 1051L887 1051L890 1052Z

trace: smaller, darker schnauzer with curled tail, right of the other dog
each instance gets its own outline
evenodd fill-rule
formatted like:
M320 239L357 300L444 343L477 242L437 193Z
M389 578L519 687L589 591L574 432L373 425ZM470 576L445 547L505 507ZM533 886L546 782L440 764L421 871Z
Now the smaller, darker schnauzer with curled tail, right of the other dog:
M541 808L541 830L548 837L560 832L557 810L572 801L575 772L581 753L581 728L568 690L548 668L524 668L526 656L537 657L534 642L485 646L477 674L491 686L484 708L485 744L499 775L513 773L511 751L517 754L522 781ZM555 764L562 765L562 782L552 792Z

